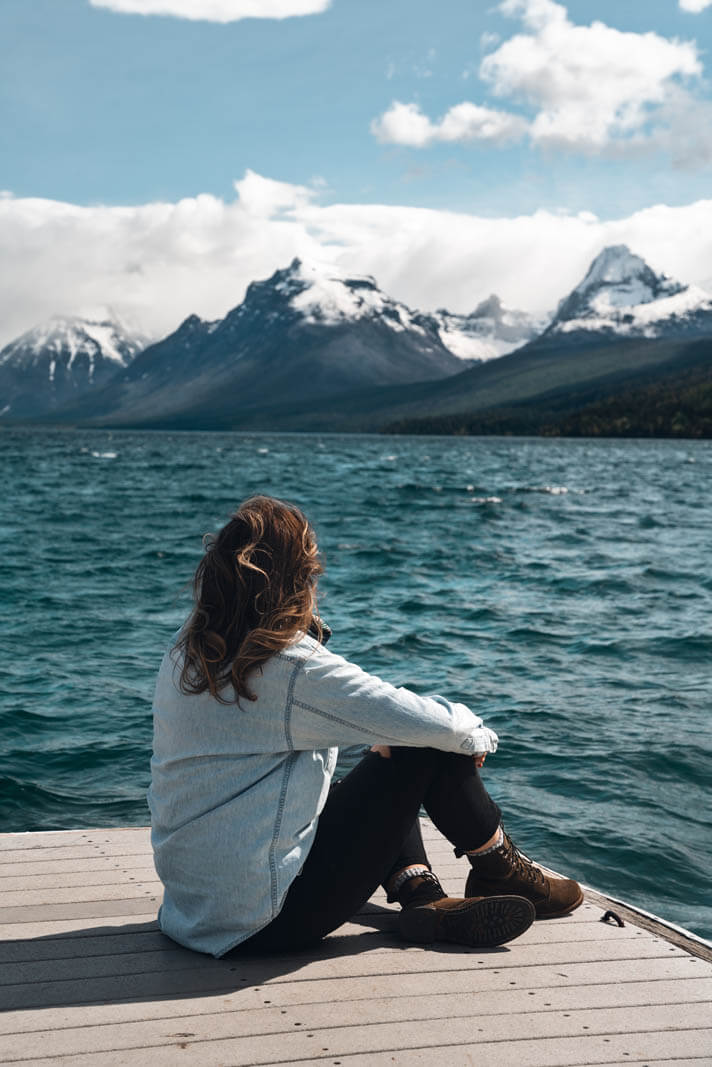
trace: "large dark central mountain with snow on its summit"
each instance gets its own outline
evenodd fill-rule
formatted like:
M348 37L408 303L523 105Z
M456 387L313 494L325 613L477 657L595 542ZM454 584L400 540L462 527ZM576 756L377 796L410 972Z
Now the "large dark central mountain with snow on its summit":
M436 323L392 300L373 277L295 259L253 282L224 319L191 316L149 346L80 414L124 425L174 414L189 420L192 413L224 419L459 370L462 361Z

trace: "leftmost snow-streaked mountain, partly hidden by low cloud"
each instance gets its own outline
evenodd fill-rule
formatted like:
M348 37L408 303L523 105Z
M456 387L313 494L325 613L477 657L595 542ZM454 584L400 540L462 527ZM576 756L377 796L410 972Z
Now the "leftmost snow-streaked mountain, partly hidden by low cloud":
M56 411L100 388L144 345L115 318L56 316L0 351L0 416Z

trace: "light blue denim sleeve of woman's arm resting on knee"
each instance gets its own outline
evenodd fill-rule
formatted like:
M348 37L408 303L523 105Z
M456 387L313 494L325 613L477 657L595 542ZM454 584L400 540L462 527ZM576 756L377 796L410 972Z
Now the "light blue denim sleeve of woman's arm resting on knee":
M295 749L380 743L466 755L496 751L496 734L464 704L396 688L306 640L289 700Z

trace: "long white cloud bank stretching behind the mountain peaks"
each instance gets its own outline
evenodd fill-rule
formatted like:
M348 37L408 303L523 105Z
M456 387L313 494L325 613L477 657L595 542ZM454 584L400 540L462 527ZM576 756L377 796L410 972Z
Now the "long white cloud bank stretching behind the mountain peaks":
M601 222L536 211L482 218L378 204L322 205L315 190L248 172L237 196L137 207L0 197L0 345L52 314L109 304L156 336L192 312L223 316L295 256L371 273L414 307L466 312L490 292L552 308L605 244L703 284L712 201Z

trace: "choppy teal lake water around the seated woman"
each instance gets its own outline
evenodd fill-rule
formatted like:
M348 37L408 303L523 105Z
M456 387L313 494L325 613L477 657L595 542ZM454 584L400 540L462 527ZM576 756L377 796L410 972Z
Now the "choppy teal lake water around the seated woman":
M145 824L201 538L282 495L335 651L479 712L525 851L712 936L707 442L4 431L3 830Z

